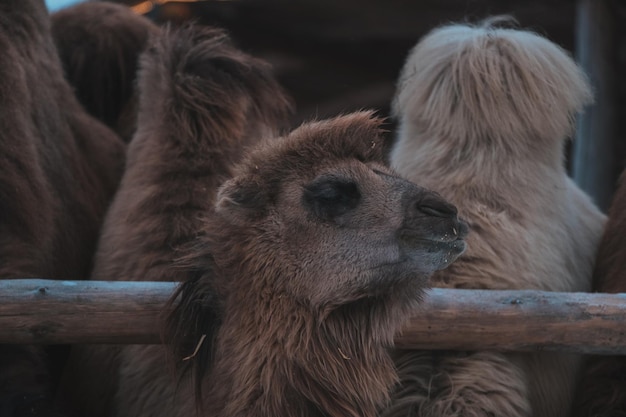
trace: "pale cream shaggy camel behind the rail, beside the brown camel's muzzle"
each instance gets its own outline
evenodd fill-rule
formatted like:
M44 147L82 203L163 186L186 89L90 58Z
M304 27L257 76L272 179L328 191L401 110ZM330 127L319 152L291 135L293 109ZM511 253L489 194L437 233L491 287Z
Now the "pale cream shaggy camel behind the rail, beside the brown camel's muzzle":
M568 178L572 121L591 99L558 46L534 33L448 25L407 59L392 165L459 206L468 250L437 287L586 291L604 216ZM405 352L387 416L559 417L579 358Z

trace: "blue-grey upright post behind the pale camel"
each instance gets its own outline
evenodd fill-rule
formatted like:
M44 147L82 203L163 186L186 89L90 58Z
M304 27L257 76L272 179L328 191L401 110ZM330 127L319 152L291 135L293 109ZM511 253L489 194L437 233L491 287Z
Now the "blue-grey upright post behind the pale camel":
M579 0L576 18L576 58L589 76L595 104L578 120L572 175L606 211L619 175L615 160L615 21L606 0Z

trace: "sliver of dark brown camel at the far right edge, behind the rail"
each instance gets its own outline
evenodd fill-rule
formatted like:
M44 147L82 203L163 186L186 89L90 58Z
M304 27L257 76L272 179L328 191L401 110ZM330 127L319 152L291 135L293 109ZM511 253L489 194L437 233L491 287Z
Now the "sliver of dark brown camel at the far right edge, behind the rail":
M593 273L593 289L626 292L626 171L609 209ZM576 400L576 417L626 416L626 358L588 358Z

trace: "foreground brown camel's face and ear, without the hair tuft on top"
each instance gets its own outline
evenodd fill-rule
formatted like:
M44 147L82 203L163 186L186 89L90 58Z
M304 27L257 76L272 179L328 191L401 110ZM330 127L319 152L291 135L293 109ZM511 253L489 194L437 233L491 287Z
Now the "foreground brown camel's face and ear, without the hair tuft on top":
M256 262L280 269L268 277L273 291L314 307L389 296L398 288L418 294L433 272L465 250L468 227L456 208L380 162L323 163L273 187L278 191L268 197L235 178L218 206L227 200L238 210L248 206L239 226L255 231L255 252L263 257ZM270 242L272 251L259 249Z

